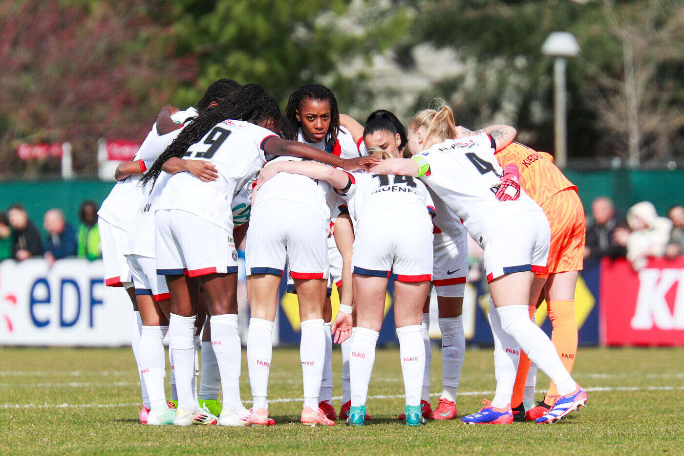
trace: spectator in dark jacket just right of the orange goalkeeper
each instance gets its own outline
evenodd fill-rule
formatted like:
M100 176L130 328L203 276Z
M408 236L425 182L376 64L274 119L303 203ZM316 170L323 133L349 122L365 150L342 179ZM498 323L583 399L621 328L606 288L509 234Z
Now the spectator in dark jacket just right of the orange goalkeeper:
M587 221L585 261L590 259L599 262L603 257L615 259L627 255L627 250L617 242L614 236L619 223L620 219L615 214L613 201L607 197L594 199L592 218Z

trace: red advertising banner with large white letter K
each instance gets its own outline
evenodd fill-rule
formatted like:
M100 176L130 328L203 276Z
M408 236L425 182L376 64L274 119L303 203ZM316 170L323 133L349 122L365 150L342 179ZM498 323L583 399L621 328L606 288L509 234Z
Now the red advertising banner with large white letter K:
M600 302L603 344L684 345L684 257L603 259Z

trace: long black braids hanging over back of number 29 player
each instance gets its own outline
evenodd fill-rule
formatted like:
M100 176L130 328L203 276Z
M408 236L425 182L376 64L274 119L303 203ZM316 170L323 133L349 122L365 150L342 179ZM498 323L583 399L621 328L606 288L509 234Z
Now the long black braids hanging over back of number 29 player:
M183 157L187 149L202 139L216 124L228 118L256 123L266 117L280 121L278 103L259 84L241 86L228 100L210 107L190 121L179 136L157 157L140 182L144 186L151 181L154 186L163 164L172 157Z

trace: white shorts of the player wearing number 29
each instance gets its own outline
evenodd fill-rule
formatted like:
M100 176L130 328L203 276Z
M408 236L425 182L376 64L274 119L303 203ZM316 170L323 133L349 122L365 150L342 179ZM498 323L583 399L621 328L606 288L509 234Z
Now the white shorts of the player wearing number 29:
M233 233L179 209L155 212L158 275L237 273Z

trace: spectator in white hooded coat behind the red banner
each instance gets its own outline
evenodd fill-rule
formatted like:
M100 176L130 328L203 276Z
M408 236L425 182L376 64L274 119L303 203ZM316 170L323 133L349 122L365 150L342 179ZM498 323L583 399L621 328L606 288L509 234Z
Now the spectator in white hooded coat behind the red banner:
M632 232L627 242L627 259L634 270L646 266L648 257L661 257L670 240L672 222L659 217L653 203L642 201L627 211L627 223Z

